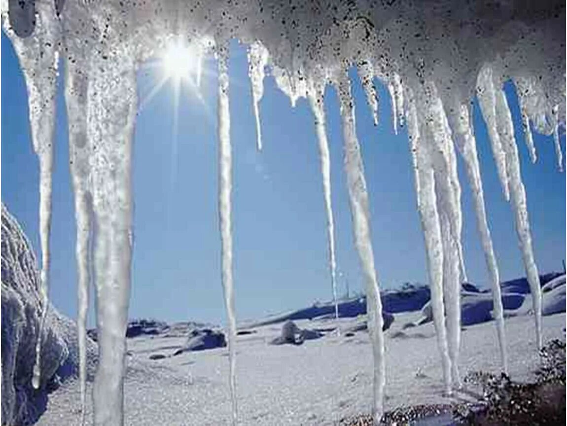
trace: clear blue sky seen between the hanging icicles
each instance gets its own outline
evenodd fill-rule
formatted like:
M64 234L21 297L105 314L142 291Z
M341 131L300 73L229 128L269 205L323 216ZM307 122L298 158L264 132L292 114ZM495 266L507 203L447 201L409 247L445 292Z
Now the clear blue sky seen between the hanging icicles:
M179 107L174 137L174 96L164 88L139 113L134 140L134 256L130 317L168 321L225 321L217 214L217 86L215 63L202 81L204 104L189 91ZM318 147L307 102L291 108L271 77L260 104L264 150L256 151L246 49L232 44L229 62L234 157L233 229L236 312L239 319L301 307L331 297ZM379 85L380 123L373 125L354 73L357 132L370 195L376 271L382 288L427 282L424 241L416 210L405 129L396 136L390 98ZM145 98L159 71L138 76ZM62 87L62 85L61 85ZM506 87L519 138L534 250L540 272L558 271L565 257L565 175L557 171L550 137L535 135L538 162L523 143L518 104ZM341 124L336 93L325 94L331 149L337 261L351 292L362 290L342 171ZM76 272L73 194L68 167L65 104L57 99L50 297L75 317ZM503 200L486 127L475 103L474 125L486 208L503 280L523 276L513 214ZM561 138L562 149L565 137ZM173 153L177 153L174 155ZM469 280L487 286L471 195L463 185L463 242ZM39 254L38 163L33 154L27 96L10 41L2 33L2 201L15 214ZM92 311L92 309L91 309ZM92 318L92 317L91 317Z

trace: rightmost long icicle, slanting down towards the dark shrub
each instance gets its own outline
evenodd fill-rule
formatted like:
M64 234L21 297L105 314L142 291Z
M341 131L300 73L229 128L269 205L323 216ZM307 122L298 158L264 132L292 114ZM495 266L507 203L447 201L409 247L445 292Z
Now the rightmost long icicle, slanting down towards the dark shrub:
M516 220L516 230L522 250L522 258L526 267L527 279L530 283L532 303L534 306L536 324L536 342L541 348L541 288L538 267L535 264L534 252L531 244L530 222L526 202L526 189L522 183L518 147L514 139L514 125L506 95L502 89L496 90L495 107L497 119L497 132L502 141L502 149L506 154L507 176L510 184L512 208Z

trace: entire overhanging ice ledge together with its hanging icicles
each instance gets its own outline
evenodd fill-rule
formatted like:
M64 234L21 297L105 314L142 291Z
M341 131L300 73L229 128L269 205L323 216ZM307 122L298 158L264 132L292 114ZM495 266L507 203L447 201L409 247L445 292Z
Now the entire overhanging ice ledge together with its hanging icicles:
M44 309L48 306L46 285L58 57L65 62L71 173L78 222L79 330L84 329L86 290L91 275L96 288L100 336L100 363L94 385L96 424L121 424L123 419L124 332L132 245L130 148L137 106L136 70L143 61L159 54L171 37L180 37L188 44L206 45L217 53L220 61L219 210L234 421L230 117L224 50L226 41L231 38L251 45L249 75L258 147L261 147L258 105L263 95L266 64L270 65L278 87L289 96L292 105L302 96L311 101L321 149L331 252L334 243L322 94L327 81L338 89L354 234L367 282L375 363L376 422L383 411L384 341L379 327L382 321L379 287L370 244L369 200L354 128L354 104L346 77L350 66L358 66L374 121L378 120L374 88L374 79L378 78L390 92L394 128L397 131L404 121L408 124L434 323L447 393L459 385L459 292L460 281L466 278L460 241L460 184L453 144L464 158L473 191L477 225L493 285L502 361L504 368L506 366L498 269L469 120L469 104L475 94L488 127L503 193L514 212L532 290L536 340L538 345L541 343L538 270L531 247L518 147L502 85L509 80L515 85L524 138L532 161L536 160L534 129L553 135L561 168L559 128L565 128L564 2L3 0L2 20L26 78L32 139L40 158ZM194 60L200 69L201 55ZM92 241L89 235L93 236ZM92 250L89 249L91 244ZM329 257L333 275L334 256ZM91 269L93 272L89 273ZM81 335L83 339L84 333ZM37 369L36 375L39 374ZM82 377L84 380L84 374ZM84 395L84 385L81 389Z

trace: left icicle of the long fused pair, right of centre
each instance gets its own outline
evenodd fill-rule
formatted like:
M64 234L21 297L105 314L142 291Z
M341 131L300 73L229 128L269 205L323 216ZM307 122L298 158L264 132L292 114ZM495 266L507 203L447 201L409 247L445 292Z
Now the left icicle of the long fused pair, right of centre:
M408 132L411 142L412 160L416 178L417 207L420 212L428 259L431 289L431 308L437 344L441 353L445 392L451 394L451 358L449 357L445 306L443 305L443 242L441 224L435 196L434 170L428 145L421 140L420 117L417 116L416 100L408 99Z

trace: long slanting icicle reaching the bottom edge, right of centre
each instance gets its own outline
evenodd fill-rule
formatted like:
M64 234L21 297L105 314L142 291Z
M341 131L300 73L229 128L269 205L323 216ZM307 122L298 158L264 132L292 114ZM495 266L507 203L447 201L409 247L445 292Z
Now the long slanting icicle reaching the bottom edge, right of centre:
M374 356L374 423L379 424L384 412L384 385L386 366L384 363L384 333L382 331L382 301L380 288L374 269L374 253L370 238L370 210L366 180L356 125L354 123L354 100L350 92L350 83L345 74L338 82L338 94L341 104L342 134L345 146L345 172L349 188L350 212L352 214L354 241L361 260L366 281L366 305L368 326Z

